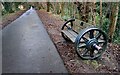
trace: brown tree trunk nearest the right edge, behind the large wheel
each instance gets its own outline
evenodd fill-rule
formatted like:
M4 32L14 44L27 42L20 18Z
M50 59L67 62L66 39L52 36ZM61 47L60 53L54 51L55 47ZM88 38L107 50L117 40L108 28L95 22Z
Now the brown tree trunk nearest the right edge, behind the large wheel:
M119 11L118 5L119 5L118 3L112 5L112 12L111 12L111 16L110 16L111 23L109 25L109 42L112 42L115 28L116 28L116 23L117 23L117 19L118 19L118 11Z

